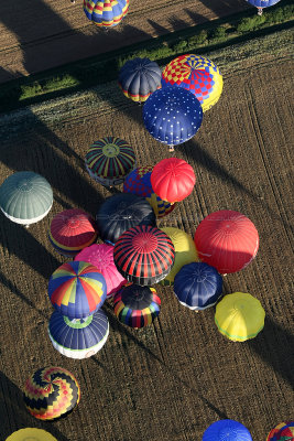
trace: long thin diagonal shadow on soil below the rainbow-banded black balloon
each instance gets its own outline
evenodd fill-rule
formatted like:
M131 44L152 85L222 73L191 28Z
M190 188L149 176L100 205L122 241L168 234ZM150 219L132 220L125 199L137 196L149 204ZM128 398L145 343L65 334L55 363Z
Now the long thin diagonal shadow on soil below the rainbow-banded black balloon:
M159 355L156 355L153 351L151 351L143 342L141 342L131 331L128 330L127 325L123 325L115 315L113 313L113 308L111 308L110 304L105 303L104 304L104 310L107 312L107 316L109 320L109 325L110 327L116 332L119 331L120 333L123 333L128 340L132 341L133 343L135 343L135 345L138 347L140 347L141 349L144 351L144 353L146 353L148 356L150 356L154 362L157 362L161 364L161 366L165 369L165 372L168 373L168 375L171 376L171 378L173 378L174 380L176 380L183 388L183 386L185 387L185 389L187 389L188 391L197 395L198 398L202 399L202 401L210 409L213 410L219 418L221 419L228 419L228 416L220 409L218 409L213 402L210 402L207 398L205 398L199 390L196 390L194 388L190 387L190 385L183 380L183 378L181 378L179 376L177 376L174 372L173 368L168 367L166 365L166 363L164 362L164 359L162 359L162 357L160 357ZM96 361L95 361L96 362Z

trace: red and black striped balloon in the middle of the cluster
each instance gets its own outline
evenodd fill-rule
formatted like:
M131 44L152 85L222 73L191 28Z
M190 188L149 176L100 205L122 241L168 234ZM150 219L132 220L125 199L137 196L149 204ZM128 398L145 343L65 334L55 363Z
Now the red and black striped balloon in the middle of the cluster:
M113 256L118 270L127 280L150 286L168 275L175 249L172 239L161 229L141 225L120 236Z

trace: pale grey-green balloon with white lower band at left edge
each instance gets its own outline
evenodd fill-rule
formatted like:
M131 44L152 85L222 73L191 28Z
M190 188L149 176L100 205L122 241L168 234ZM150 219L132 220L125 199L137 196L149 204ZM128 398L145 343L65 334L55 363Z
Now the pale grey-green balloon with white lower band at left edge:
M0 208L17 224L30 225L43 219L52 204L52 187L37 173L13 173L0 186Z

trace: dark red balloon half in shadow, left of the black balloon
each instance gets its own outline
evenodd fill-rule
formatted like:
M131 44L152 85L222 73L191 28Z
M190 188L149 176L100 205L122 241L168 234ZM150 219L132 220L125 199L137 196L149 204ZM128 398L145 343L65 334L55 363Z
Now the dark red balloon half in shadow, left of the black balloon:
M58 213L51 222L48 238L63 256L75 256L97 239L94 218L83 209L73 208Z

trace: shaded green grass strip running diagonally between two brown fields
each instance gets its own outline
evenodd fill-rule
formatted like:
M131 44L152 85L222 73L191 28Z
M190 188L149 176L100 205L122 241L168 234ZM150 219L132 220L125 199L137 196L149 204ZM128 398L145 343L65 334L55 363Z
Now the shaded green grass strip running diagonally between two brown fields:
M275 7L265 9L261 17L257 14L255 8L252 8L225 19L187 28L41 74L13 79L0 85L0 111L6 112L113 80L118 77L120 67L134 57L148 57L164 65L179 54L200 55L290 29L293 26L293 19L292 0L283 0Z

